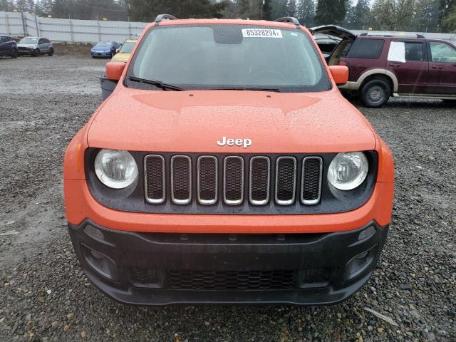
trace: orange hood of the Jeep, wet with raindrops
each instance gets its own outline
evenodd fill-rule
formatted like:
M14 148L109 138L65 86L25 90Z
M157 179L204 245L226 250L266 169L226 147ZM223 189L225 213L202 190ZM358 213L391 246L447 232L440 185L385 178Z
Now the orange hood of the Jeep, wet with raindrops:
M373 150L367 120L336 90L115 90L93 117L90 147L150 152L347 152ZM252 145L219 146L223 137Z

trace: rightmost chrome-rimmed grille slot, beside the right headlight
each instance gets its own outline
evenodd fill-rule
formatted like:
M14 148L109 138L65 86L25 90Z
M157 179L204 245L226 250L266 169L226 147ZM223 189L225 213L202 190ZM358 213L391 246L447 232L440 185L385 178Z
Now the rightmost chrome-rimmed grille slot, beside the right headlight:
M321 177L323 160L321 157L305 157L302 161L301 202L317 204L321 197Z

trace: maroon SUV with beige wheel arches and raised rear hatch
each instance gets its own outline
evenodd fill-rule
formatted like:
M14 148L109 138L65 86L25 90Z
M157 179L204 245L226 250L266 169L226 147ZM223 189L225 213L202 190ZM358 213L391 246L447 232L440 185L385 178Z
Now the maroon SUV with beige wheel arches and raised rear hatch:
M326 61L348 66L348 83L340 88L358 91L367 107L380 107L390 96L456 100L456 46L448 41L420 35L355 36L338 26L311 31L341 39Z

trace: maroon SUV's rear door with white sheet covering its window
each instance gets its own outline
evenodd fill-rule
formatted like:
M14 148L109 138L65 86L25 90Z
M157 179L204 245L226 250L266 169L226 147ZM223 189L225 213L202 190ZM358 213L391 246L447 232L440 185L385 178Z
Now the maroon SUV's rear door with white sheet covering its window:
M429 63L422 39L393 39L388 51L387 69L398 78L398 93L426 93Z

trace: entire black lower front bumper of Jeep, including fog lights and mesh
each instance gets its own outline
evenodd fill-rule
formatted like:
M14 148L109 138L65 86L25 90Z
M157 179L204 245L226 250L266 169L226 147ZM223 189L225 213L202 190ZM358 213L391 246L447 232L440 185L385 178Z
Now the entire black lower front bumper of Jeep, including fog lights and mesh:
M139 233L89 220L68 229L98 289L146 305L343 301L371 276L388 234L375 222L322 234Z

